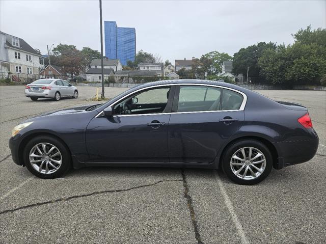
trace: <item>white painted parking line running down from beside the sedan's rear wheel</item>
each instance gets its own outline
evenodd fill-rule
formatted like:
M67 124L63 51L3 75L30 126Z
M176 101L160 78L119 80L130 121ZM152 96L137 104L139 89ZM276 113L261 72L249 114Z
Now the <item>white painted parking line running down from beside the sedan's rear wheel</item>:
M238 217L237 217L237 215L236 215L236 213L234 211L234 208L233 208L233 205L232 205L232 203L231 203L231 201L229 199L229 196L225 191L222 180L217 175L216 171L214 172L214 174L215 174L215 178L218 181L218 184L220 186L220 189L221 189L225 204L228 207L229 213L231 214L233 224L235 225L235 228L236 228L236 230L237 230L237 232L238 232L238 234L239 234L239 236L241 238L241 243L242 244L249 244L250 242L248 241L248 239L246 237L246 234L243 231L242 225L241 225L240 221L238 220Z

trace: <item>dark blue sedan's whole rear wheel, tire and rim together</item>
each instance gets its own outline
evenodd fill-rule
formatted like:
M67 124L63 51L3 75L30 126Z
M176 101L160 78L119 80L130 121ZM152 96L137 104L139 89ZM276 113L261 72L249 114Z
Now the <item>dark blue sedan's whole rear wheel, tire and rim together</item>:
M273 168L273 157L269 149L259 141L238 141L227 148L222 168L235 183L253 185L269 175Z

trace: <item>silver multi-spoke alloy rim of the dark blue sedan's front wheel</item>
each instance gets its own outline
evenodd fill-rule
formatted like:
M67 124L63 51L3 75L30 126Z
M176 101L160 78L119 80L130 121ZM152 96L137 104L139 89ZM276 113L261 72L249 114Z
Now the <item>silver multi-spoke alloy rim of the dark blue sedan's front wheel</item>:
M50 143L38 143L30 151L33 168L42 174L52 174L59 170L62 155L59 149Z

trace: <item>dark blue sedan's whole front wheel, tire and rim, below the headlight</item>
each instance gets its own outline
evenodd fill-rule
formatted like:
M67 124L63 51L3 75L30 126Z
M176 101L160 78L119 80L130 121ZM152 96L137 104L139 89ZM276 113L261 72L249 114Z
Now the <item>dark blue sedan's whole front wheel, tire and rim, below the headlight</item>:
M33 138L23 152L26 168L40 178L58 178L70 168L70 154L66 146L56 138Z

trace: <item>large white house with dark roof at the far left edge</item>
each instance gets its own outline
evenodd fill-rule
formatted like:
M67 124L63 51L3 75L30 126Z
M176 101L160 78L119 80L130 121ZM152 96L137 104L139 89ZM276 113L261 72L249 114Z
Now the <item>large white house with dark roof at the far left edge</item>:
M40 77L44 57L19 37L0 32L0 70L16 82L30 82Z

